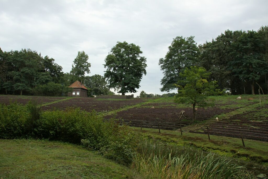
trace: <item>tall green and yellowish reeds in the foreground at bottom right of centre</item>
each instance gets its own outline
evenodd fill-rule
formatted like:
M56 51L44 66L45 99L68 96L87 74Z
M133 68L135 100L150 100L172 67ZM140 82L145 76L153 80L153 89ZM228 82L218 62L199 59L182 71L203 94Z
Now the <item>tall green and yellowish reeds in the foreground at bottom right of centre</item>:
M145 138L132 164L146 178L254 178L227 157Z

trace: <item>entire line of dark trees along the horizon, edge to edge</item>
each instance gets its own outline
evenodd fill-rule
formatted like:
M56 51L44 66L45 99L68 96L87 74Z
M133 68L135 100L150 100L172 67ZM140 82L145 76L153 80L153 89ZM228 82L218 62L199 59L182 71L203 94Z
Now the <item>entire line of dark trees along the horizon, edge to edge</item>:
M68 86L79 80L89 88L88 96L137 92L146 75L146 58L140 46L117 42L105 58L104 76L90 73L89 56L79 51L69 73L49 56L42 57L31 49L3 52L0 48L0 93L12 95L61 96ZM190 67L203 67L209 72L207 80L218 81L221 90L231 94L255 94L258 85L268 93L268 27L258 31L226 30L211 42L197 45L194 37L178 36L159 59L164 77L161 91L178 89L178 81ZM258 83L258 84L256 84ZM158 95L141 92L140 97ZM161 95L159 95L161 96Z

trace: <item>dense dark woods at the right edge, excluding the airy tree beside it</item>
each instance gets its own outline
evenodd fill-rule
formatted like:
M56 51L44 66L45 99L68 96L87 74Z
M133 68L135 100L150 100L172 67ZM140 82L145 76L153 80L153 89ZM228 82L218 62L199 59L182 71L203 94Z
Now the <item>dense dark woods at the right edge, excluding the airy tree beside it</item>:
M268 27L256 31L230 31L199 46L199 66L211 73L221 90L255 94L256 82L268 94Z

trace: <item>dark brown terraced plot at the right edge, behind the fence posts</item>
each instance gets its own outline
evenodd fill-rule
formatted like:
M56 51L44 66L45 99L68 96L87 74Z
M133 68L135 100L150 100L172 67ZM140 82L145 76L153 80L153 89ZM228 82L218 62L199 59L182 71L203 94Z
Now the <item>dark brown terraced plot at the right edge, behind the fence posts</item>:
M268 112L268 105L266 109ZM209 126L209 133L237 138L240 138L242 134L246 139L268 141L268 115L256 117L254 112L256 110L237 114L231 116L229 119L222 119L215 122ZM207 130L203 130L203 132L197 133L207 134Z

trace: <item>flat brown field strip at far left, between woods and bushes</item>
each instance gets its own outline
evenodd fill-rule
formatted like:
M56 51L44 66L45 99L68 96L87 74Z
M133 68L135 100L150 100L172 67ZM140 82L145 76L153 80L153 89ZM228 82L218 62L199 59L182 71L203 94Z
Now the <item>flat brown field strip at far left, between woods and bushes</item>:
M64 98L66 98L66 97L0 95L0 103L8 105L8 104L10 104L10 102L18 102L18 103L25 105L29 101L34 101L38 105L40 105L43 103L58 101L58 100L64 99Z

